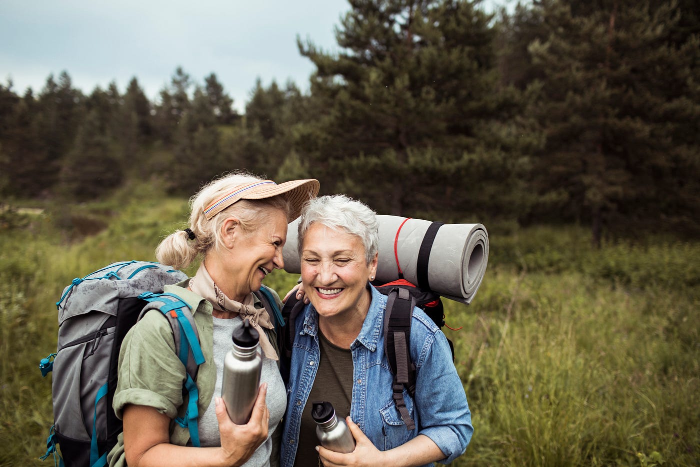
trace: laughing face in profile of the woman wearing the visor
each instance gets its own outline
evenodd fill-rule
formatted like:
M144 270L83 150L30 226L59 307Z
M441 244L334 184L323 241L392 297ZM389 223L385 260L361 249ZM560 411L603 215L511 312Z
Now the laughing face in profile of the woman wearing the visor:
M230 284L230 292L225 291L226 295L241 302L250 292L260 290L267 274L284 267L282 247L286 240L287 216L281 210L271 210L268 218L253 231L235 226L227 255L226 282Z

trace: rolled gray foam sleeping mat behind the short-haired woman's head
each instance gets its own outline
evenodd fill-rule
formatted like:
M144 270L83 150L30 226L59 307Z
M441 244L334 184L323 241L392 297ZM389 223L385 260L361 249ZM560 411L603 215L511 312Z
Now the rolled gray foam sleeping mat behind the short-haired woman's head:
M471 303L489 260L489 234L482 224L442 224L390 215L377 215L377 221L379 264L375 283L397 280L401 271L405 280L421 288L456 302ZM288 273L301 271L298 222L289 224L283 250Z

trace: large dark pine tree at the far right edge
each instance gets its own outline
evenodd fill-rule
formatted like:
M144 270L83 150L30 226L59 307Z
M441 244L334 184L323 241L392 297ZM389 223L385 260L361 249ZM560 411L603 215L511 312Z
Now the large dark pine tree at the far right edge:
M564 219L589 223L596 245L605 226L687 220L699 201L687 178L698 175L697 131L688 133L700 116L698 38L671 43L671 2L552 0L542 8L547 41L530 46L545 76L532 109L547 131L538 192L560 201Z

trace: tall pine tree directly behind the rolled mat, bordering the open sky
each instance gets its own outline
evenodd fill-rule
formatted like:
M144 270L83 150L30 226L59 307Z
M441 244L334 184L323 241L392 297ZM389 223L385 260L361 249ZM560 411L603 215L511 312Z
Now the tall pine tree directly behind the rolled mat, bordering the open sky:
M351 6L337 55L299 42L316 65L311 93L325 109L313 163L322 187L395 215L476 212L470 201L482 201L482 187L461 179L470 165L500 173L499 183L509 177L493 156L501 143L488 135L510 105L498 89L491 15L468 1Z

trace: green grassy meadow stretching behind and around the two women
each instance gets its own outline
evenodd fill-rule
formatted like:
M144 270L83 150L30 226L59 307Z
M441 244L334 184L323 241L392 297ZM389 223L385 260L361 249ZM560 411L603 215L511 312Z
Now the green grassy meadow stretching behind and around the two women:
M187 203L151 185L109 201L0 210L0 466L41 462L55 302L72 278L153 259ZM473 221L473 219L471 219ZM589 246L579 227L489 225L489 267L444 329L472 410L456 466L700 464L700 241ZM192 272L192 271L187 271ZM296 277L267 279L281 294Z

